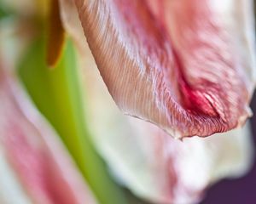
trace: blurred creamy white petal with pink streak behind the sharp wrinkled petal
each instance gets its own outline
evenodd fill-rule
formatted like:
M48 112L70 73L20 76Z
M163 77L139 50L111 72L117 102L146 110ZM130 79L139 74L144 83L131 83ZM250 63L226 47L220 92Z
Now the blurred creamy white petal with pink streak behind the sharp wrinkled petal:
M196 203L210 184L251 167L248 126L207 139L172 139L148 122L122 116L93 69L90 51L83 58L92 139L119 181L136 195L155 203Z

